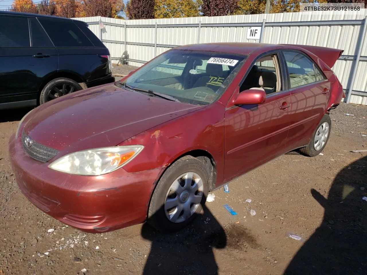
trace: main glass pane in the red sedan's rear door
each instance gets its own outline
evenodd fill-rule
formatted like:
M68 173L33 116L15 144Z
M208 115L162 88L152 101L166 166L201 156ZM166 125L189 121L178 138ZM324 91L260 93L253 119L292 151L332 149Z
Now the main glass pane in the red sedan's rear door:
M291 88L316 82L314 64L299 52L283 52L286 59Z

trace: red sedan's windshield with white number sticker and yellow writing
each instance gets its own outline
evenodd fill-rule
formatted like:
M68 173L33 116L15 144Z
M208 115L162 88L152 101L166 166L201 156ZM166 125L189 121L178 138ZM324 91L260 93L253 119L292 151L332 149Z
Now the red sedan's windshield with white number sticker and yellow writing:
M132 89L169 95L180 102L210 104L217 100L240 68L245 55L171 50L126 79Z

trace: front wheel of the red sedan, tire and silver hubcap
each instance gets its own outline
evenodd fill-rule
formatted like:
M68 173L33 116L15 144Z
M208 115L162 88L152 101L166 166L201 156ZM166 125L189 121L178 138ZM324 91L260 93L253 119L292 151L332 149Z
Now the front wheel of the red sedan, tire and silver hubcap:
M186 182L185 177L191 177L191 181ZM196 186L196 192L192 186ZM201 212L208 190L209 173L203 162L192 156L178 159L157 183L150 200L148 223L164 233L181 230ZM194 200L196 203L193 203ZM170 206L173 207L168 209Z

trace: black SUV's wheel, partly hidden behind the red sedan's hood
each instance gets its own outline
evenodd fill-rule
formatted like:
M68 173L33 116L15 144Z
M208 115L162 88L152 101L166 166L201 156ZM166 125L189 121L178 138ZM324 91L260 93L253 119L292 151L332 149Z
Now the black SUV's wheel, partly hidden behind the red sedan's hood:
M46 103L60 96L82 90L83 88L74 80L59 77L51 80L43 87L40 95L40 104Z

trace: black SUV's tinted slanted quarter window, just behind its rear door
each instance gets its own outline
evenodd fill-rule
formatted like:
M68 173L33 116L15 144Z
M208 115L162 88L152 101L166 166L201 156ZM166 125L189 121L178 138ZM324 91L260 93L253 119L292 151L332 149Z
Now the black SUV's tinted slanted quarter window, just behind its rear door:
M73 21L38 18L56 47L93 47Z

